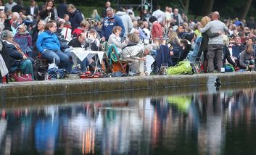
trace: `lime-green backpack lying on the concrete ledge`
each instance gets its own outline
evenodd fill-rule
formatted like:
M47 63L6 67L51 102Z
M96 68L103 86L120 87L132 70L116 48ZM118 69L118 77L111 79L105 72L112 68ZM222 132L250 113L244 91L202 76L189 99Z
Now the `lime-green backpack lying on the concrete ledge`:
M193 74L189 61L178 62L174 67L168 67L167 75L187 75Z

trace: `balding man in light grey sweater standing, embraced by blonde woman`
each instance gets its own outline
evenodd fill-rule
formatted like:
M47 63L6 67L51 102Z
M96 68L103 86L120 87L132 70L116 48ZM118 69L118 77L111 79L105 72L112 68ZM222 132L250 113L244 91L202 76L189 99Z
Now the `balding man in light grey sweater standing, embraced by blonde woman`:
M212 33L218 33L219 31L228 31L228 28L223 22L219 20L220 14L218 12L212 12L212 21L205 25L205 28L201 28L201 33L205 33L210 30ZM213 72L214 64L213 60L216 59L218 64L218 72L223 65L222 62L222 51L223 51L223 37L221 35L209 38L208 42L208 72Z

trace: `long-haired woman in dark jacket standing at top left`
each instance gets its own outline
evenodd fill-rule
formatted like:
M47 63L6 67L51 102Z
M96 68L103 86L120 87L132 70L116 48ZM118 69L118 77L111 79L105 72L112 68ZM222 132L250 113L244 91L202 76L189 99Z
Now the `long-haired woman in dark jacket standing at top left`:
M55 6L54 0L46 1L46 5L43 7L41 12L39 13L40 18L44 19L44 21L46 22L48 22L49 20L57 20L58 13L57 13L57 9L54 6Z

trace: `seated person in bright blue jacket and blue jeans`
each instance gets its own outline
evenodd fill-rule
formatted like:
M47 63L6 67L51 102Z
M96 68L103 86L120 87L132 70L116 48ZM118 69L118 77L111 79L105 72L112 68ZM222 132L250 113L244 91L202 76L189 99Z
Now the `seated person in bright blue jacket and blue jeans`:
M36 41L36 48L41 53L41 56L46 58L49 63L55 63L59 68L65 68L69 73L72 70L72 62L69 56L60 51L60 43L55 32L57 30L57 24L53 20L46 24L45 31L38 35Z

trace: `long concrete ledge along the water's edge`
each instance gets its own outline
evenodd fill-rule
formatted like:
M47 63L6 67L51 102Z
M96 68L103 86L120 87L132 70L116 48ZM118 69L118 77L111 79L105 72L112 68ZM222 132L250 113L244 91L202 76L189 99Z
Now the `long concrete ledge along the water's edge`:
M176 76L146 76L122 78L96 78L81 80L34 81L0 84L0 99L53 96L75 93L99 93L153 88L207 87L210 77L220 78L221 85L230 83L255 83L256 72L225 74L199 74Z

